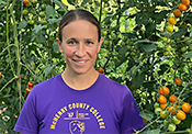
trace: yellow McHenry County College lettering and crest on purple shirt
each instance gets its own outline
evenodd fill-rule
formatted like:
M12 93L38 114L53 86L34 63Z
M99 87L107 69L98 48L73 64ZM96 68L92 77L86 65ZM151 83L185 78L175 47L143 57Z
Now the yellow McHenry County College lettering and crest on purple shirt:
M79 112L79 110L83 110L83 112ZM88 103L76 102L64 105L56 112L50 123L50 130L56 130L57 123L61 119L70 121L69 132L71 134L82 134L86 131L86 123L83 121L91 120L91 115L97 120L99 129L105 129L104 119L99 110Z

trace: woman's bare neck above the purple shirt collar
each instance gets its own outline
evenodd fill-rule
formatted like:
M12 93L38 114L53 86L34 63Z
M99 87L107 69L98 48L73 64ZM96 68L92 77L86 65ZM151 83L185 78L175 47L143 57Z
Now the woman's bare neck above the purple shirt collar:
M99 72L97 70L91 71L91 74L70 74L68 71L64 71L61 77L64 81L72 89L76 90L84 90L91 87L95 80L98 79Z

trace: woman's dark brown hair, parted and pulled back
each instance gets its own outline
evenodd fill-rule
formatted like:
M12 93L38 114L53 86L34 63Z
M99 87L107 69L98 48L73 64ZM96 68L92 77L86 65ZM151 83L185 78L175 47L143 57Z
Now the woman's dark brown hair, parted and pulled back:
M99 37L98 41L100 41L100 38L101 38L101 26L100 26L100 23L99 23L98 19L87 10L76 9L76 10L68 11L64 15L63 20L59 23L58 38L59 38L60 42L63 41L61 40L61 36L63 36L61 30L63 30L63 27L65 27L67 24L69 24L72 21L76 21L76 20L86 20L86 21L89 21L90 23L94 24L98 27L98 37Z

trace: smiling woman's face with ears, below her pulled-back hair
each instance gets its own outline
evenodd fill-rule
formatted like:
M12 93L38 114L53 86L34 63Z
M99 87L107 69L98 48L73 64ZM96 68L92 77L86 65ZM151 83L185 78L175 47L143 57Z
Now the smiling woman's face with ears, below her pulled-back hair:
M76 20L63 27L60 53L66 60L66 71L86 74L94 70L97 55L100 52L103 38L98 42L98 27L84 20Z

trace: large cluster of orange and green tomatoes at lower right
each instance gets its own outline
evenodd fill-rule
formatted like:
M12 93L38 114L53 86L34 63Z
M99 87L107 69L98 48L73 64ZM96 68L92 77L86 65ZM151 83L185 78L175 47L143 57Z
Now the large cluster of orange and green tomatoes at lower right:
M177 86L181 86L180 78L176 78ZM171 94L168 87L162 87L157 91L157 101L154 105L155 113L163 120L165 127L173 132L181 121L185 120L187 113L191 111L191 105L181 98Z

